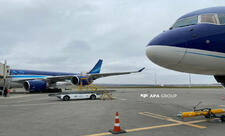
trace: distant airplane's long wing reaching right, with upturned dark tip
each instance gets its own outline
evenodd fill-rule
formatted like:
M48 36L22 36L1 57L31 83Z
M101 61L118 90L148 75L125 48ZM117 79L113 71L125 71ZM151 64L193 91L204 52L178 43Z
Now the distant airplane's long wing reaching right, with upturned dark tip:
M90 77L93 80L96 80L98 78L108 77L108 76L125 75L125 74L131 74L131 73L139 73L139 72L142 72L144 69L145 69L145 67L140 69L140 70L138 70L138 71L91 74Z

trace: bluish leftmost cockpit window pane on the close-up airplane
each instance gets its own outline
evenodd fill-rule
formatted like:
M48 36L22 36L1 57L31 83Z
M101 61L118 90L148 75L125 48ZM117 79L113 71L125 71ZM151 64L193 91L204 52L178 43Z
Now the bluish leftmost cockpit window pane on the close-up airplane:
M198 23L198 17L197 16L188 17L188 18L184 18L184 19L178 20L173 25L173 28L184 27L184 26L189 26L189 25L195 25L197 23Z

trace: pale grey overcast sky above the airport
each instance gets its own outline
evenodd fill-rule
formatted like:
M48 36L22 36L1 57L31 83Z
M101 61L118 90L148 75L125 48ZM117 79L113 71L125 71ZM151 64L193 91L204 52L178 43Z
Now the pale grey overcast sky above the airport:
M11 68L87 72L103 59L101 72L142 73L95 83L189 83L188 74L153 64L145 46L178 17L224 6L221 0L0 0L0 56ZM156 74L155 74L156 73ZM216 83L192 75L193 83Z

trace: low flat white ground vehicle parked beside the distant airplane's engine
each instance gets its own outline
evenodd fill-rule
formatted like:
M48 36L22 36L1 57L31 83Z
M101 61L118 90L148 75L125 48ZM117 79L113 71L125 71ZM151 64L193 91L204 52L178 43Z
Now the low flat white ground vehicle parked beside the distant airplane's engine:
M69 101L74 99L99 99L102 97L104 91L74 91L63 92L58 94L50 94L49 96L56 96L63 101Z

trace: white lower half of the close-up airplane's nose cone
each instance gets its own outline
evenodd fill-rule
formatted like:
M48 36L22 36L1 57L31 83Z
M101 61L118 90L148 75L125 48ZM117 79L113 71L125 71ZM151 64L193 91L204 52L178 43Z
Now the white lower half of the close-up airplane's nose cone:
M151 45L146 49L147 57L162 67L173 69L185 55L185 48Z

